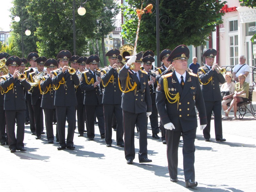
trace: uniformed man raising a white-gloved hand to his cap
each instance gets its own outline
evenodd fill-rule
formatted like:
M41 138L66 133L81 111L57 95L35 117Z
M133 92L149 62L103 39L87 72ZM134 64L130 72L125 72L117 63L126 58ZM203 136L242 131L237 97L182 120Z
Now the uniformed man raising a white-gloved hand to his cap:
M143 52L131 56L119 71L122 82L122 109L124 127L124 154L127 164L133 164L135 158L134 128L139 130L139 162L149 163L147 125L152 112L152 103L148 85L148 75L140 70ZM132 66L131 66L132 65ZM121 86L120 86L121 87Z

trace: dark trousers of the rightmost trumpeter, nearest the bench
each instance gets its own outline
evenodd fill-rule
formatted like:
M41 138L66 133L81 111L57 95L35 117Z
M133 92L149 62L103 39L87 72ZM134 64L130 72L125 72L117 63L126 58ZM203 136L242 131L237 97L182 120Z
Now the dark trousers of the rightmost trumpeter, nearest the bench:
M204 101L206 116L207 116L207 125L203 130L204 138L210 139L210 130L211 130L211 118L212 111L214 113L214 128L215 128L215 139L222 138L222 121L221 121L221 101Z

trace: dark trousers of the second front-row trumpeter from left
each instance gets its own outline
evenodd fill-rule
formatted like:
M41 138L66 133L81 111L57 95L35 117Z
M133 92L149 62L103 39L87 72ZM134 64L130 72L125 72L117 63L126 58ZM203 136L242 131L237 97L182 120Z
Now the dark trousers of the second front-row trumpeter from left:
M58 133L60 138L60 147L71 147L74 145L74 132L76 128L76 106L56 106L56 116L58 124ZM66 119L68 121L67 144L65 141Z

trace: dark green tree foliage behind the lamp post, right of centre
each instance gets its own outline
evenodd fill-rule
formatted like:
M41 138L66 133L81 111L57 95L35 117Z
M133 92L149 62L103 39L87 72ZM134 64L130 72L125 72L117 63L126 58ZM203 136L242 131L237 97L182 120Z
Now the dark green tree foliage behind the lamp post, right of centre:
M134 42L138 18L135 9L140 9L140 0L126 0L133 7L121 5L125 24L122 36ZM147 1L148 4L155 1ZM222 23L220 9L226 2L216 0L169 0L159 1L160 50L173 49L177 45L199 46L208 40L211 31ZM143 14L140 23L138 50L156 51L156 10L153 4L152 14ZM147 6L143 3L143 8ZM169 20L168 20L169 18ZM167 23L168 21L168 23Z

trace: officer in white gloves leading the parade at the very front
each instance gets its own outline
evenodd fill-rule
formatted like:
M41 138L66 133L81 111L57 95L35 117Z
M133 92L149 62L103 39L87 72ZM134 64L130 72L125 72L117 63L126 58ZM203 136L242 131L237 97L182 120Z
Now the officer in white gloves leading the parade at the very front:
M183 170L186 187L196 187L195 182L195 138L196 108L200 117L200 129L207 124L203 95L197 76L186 71L189 49L185 45L176 47L170 56L175 68L173 73L160 77L156 91L156 106L166 129L168 169L172 182L177 182L178 148L180 134L183 137Z

